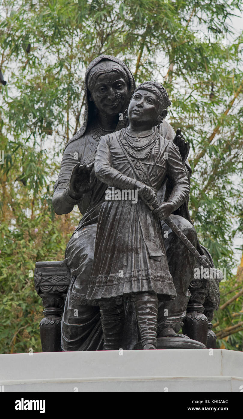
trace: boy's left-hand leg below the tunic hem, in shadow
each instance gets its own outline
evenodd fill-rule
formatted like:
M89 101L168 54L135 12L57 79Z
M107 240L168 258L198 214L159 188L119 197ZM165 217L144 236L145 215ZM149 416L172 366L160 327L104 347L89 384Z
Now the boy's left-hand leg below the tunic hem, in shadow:
M124 329L124 305L122 298L105 298L99 304L104 336L104 350L120 349Z

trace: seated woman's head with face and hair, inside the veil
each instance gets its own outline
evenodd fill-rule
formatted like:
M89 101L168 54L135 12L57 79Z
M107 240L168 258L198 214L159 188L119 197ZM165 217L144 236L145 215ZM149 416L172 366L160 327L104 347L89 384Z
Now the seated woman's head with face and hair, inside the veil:
M89 101L104 114L118 115L131 94L131 83L122 65L109 59L96 64L88 73Z

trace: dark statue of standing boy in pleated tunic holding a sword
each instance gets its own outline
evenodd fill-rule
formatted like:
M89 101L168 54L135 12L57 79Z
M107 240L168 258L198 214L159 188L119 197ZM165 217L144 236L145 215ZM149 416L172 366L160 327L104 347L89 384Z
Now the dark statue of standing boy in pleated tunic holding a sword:
M142 348L156 349L158 300L176 296L159 220L186 202L190 184L177 147L153 130L169 105L161 84L142 83L129 103L129 127L101 137L96 150L97 178L138 193L136 204L106 200L99 213L86 298L99 303L106 350L122 344L123 298L134 302ZM170 197L152 211L165 178Z

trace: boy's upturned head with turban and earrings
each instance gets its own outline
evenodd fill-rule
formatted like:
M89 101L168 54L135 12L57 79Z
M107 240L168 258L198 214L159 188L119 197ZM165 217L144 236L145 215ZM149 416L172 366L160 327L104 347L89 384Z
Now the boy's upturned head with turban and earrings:
M171 105L165 88L157 82L147 81L140 84L134 91L128 108L129 120L159 124L167 115L167 107Z

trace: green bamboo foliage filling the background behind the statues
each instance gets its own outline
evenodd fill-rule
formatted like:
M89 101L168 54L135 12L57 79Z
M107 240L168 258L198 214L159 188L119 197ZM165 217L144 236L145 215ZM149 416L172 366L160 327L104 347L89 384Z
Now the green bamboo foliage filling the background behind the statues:
M137 83L165 85L170 123L191 145L192 219L215 265L227 269L223 303L236 282L242 287L242 274L232 272L234 238L242 243L243 231L243 39L231 38L229 25L242 6L242 0L1 3L0 70L8 83L0 85L0 352L40 351L41 302L29 270L37 260L63 259L77 225L75 212L54 215L53 183L63 148L81 125L85 68L102 53L124 59ZM230 41L199 42L199 30ZM242 321L242 297L227 307L215 318L217 331ZM242 349L243 332L223 342Z

